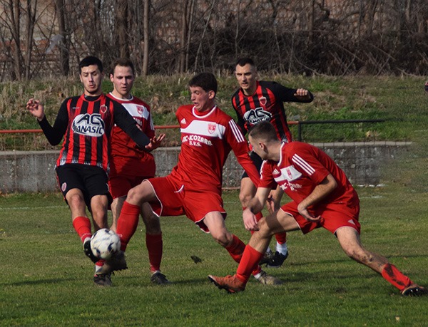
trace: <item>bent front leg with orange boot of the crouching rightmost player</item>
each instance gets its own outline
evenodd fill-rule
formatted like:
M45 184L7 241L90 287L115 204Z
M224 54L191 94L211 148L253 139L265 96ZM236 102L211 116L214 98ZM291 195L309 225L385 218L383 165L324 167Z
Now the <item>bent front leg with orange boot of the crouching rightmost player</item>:
M263 257L272 235L278 232L286 232L299 229L295 219L281 209L267 217L260 219L260 230L251 236L250 242L245 246L238 270L234 276L218 277L209 276L215 286L226 289L231 293L243 291L248 279L258 262Z

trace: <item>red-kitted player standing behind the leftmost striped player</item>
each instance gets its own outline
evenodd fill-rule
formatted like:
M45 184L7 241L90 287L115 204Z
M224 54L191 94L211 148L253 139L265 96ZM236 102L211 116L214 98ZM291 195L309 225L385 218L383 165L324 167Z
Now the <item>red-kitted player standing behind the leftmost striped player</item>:
M131 94L135 80L134 72L133 63L129 59L120 58L114 61L110 73L113 90L108 96L121 103L123 110L127 110L141 130L151 138L151 151L161 145L165 134L155 135L150 107ZM121 128L114 126L108 176L108 185L113 197L111 229L116 231L117 219L128 191L143 180L155 177L155 172L155 159L148 149L142 150ZM159 217L153 214L147 203L141 204L141 217L146 226L146 247L150 261L151 281L154 284L168 284L168 279L161 273L163 239Z

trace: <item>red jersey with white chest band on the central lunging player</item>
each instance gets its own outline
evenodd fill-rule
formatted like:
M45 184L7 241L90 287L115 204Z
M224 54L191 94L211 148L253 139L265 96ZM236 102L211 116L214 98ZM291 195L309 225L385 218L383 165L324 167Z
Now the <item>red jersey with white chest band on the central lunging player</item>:
M181 132L181 152L171 176L185 190L221 193L223 165L230 150L258 185L259 173L248 155L248 144L235 121L220 108L199 113L193 105L183 105L175 113Z

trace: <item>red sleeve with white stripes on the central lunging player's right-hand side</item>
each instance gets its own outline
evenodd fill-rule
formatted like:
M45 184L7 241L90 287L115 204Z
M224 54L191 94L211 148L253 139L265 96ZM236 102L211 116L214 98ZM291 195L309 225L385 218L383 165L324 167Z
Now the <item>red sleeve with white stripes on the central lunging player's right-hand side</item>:
M225 136L239 164L244 168L254 185L258 187L260 182L259 172L248 155L250 151L250 149L248 149L248 143L243 133L240 132L238 125L236 125L235 120L232 118L230 118L228 122Z

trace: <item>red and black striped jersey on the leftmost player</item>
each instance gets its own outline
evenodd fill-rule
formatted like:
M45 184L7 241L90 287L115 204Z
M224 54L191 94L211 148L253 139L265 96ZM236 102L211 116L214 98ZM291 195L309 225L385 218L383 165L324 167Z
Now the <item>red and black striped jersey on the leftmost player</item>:
M39 122L51 144L63 138L57 166L82 164L103 168L108 171L110 138L116 123L125 130L138 145L148 144L148 137L136 127L136 121L121 104L99 95L74 96L63 101L54 126L46 118Z

